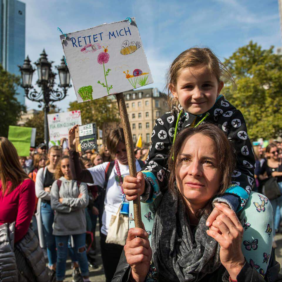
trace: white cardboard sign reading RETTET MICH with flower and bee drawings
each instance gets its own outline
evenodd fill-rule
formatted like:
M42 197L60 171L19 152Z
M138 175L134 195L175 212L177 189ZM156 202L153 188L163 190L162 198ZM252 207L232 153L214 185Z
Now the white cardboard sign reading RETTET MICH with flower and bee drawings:
M67 39L60 36L79 103L153 83L135 18L131 20L67 33Z

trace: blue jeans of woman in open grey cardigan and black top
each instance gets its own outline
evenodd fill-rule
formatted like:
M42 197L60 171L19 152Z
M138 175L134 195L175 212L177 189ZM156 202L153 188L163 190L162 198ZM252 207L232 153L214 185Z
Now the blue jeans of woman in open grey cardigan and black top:
M41 202L41 219L43 224L43 234L46 241L47 255L49 266L52 266L57 261L56 242L53 235L54 211L51 209L51 204Z

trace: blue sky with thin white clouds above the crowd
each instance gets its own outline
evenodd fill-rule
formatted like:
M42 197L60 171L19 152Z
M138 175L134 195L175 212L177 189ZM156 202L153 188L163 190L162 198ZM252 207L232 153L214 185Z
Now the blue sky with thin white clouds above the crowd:
M189 47L207 46L224 60L250 40L263 48L282 45L277 0L22 1L26 3L26 55L35 62L45 48L53 66L63 56L58 26L70 33L135 17L155 82L148 86L160 90L169 64ZM33 76L35 83L37 73ZM64 111L74 100L71 88L56 105ZM26 105L38 109L27 99Z

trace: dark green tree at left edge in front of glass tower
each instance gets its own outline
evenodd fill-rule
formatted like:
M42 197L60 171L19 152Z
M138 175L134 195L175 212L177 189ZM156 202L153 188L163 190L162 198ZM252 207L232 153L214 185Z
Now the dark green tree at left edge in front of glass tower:
M16 98L17 88L20 85L20 78L4 70L0 64L0 136L7 137L9 125L16 125L25 111Z

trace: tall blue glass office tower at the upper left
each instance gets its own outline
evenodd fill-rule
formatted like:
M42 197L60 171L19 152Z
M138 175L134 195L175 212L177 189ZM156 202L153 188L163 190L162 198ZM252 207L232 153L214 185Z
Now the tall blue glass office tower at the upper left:
M9 73L20 75L18 65L25 58L26 4L17 0L0 0L0 63ZM24 105L24 89L17 89Z

